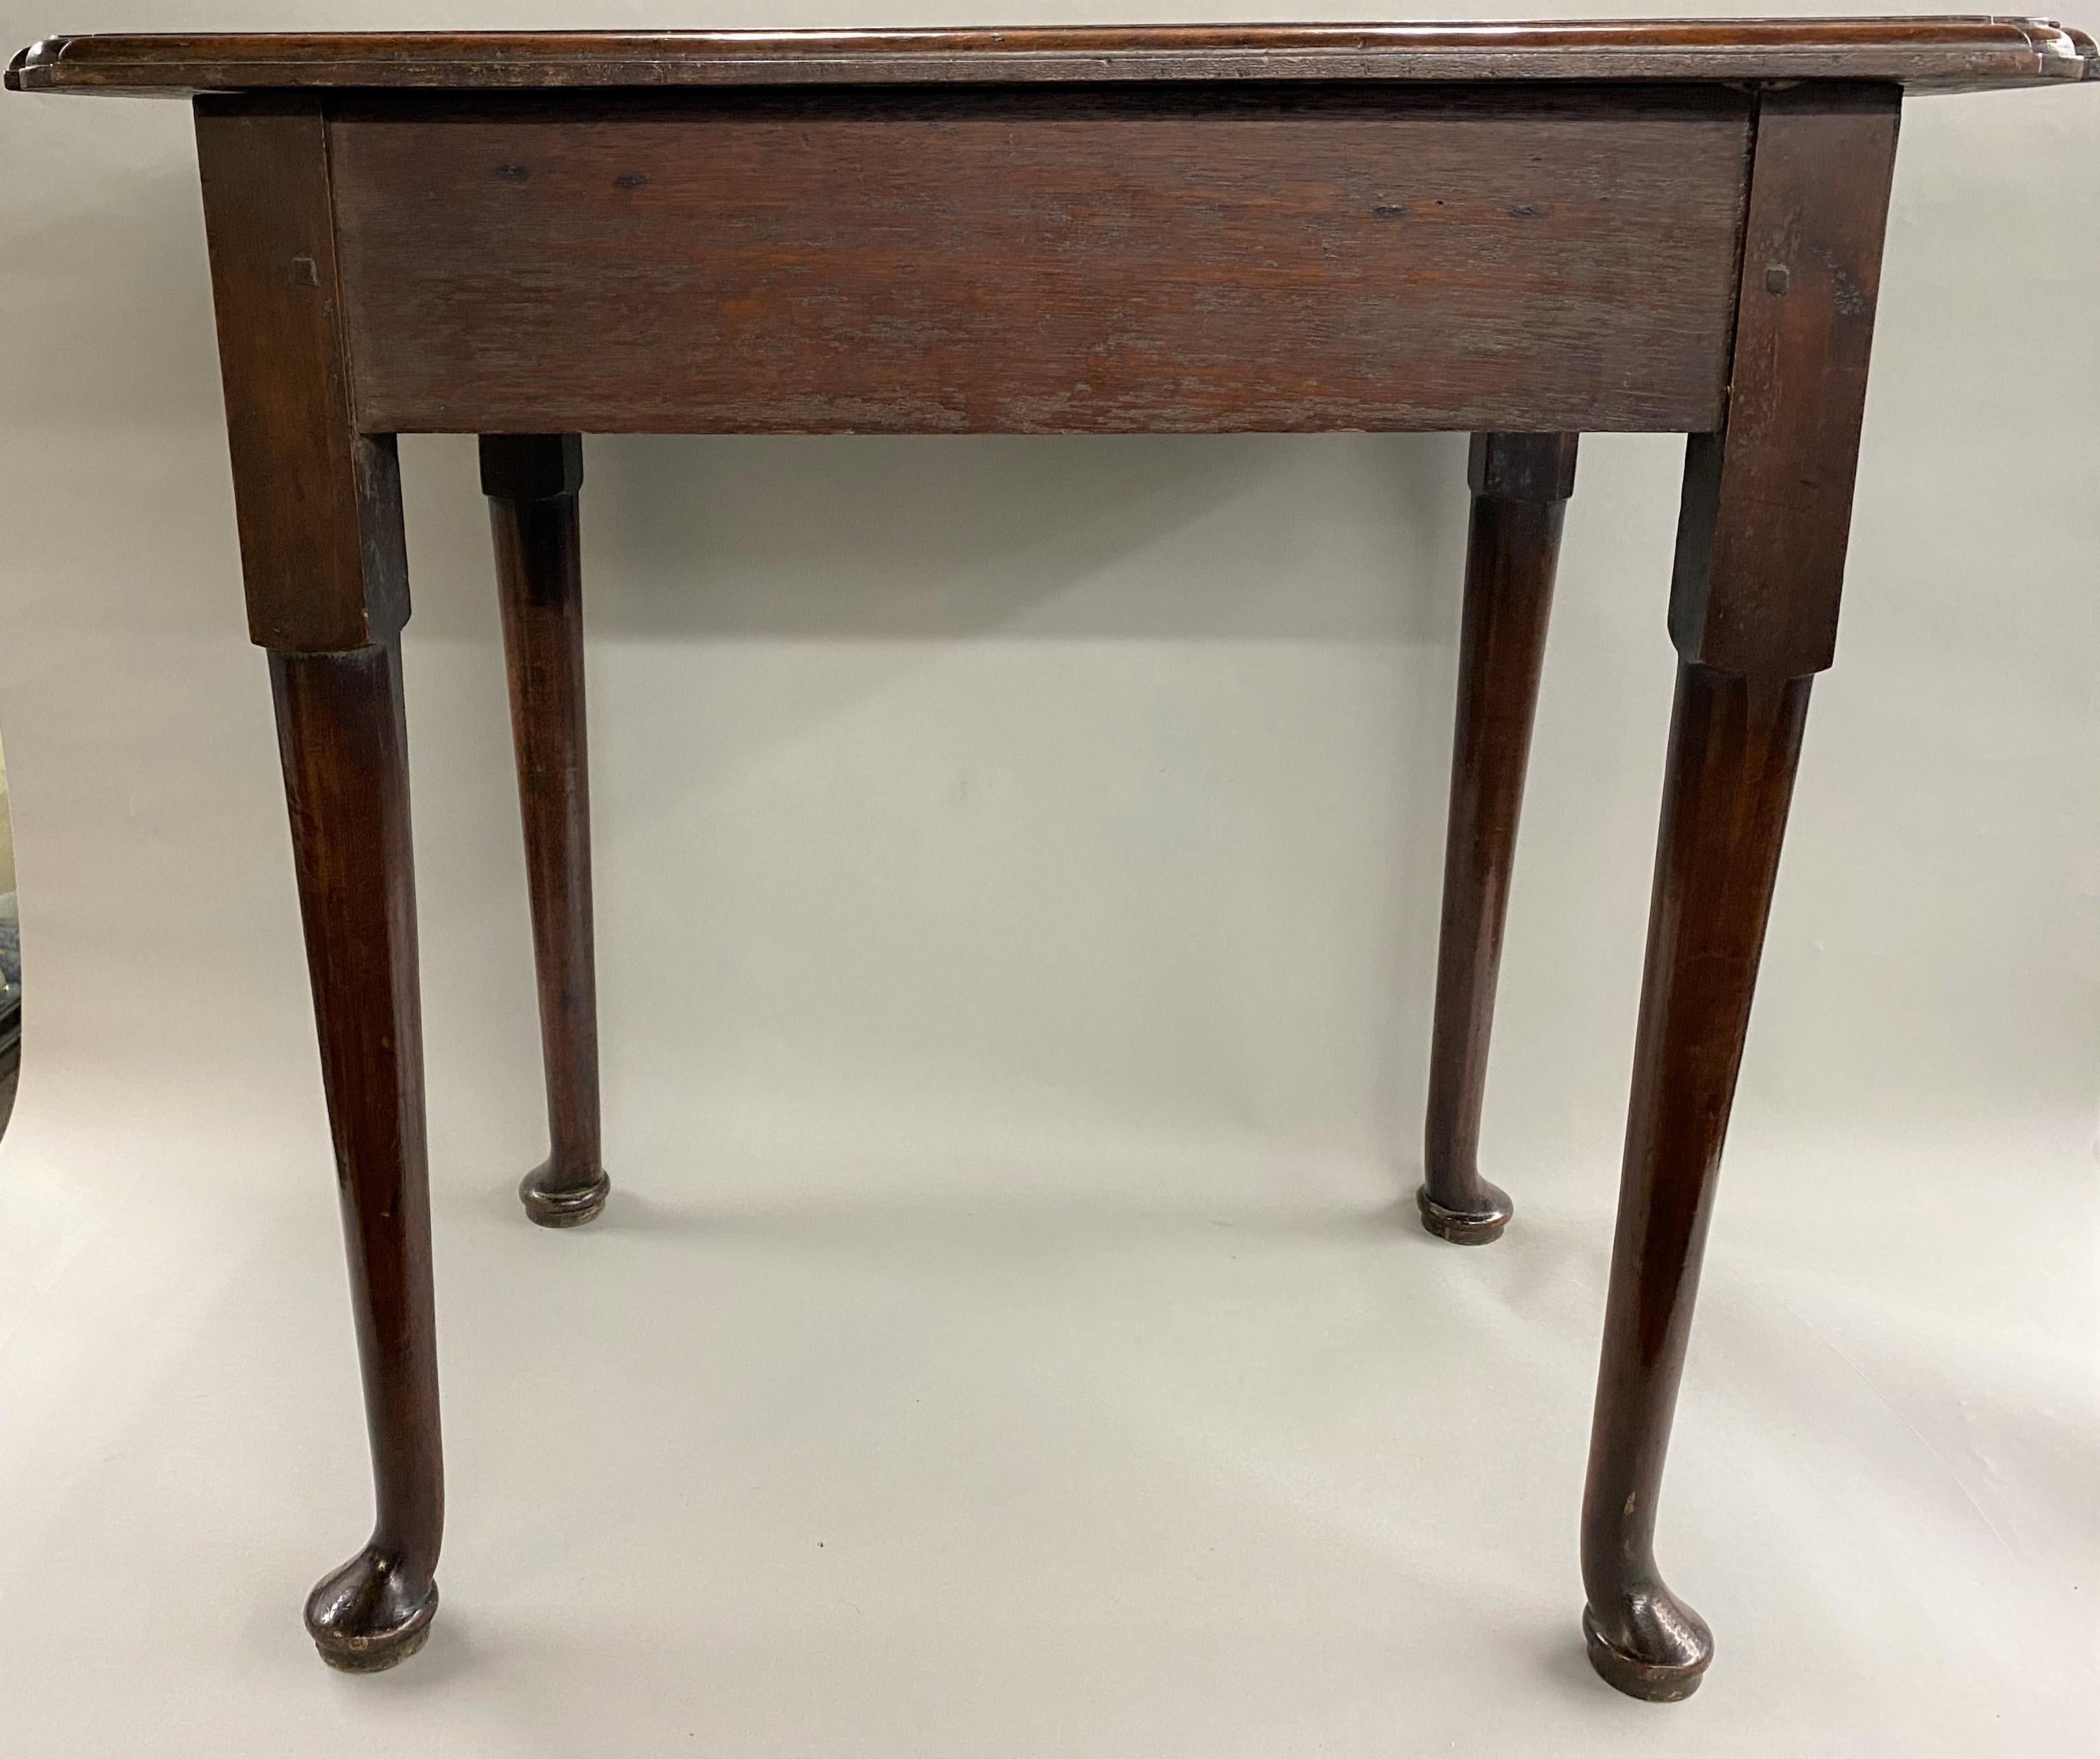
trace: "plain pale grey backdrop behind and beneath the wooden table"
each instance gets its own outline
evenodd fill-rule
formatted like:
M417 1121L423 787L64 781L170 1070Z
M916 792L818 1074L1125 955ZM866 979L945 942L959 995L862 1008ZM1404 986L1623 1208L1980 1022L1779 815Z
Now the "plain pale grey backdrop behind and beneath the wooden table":
M1002 17L1115 13L0 36ZM0 101L0 1751L2100 1753L2100 94L1903 134L1663 1503L1718 1660L1657 1709L1588 1673L1575 1518L1682 441L1583 445L1487 1251L1411 1201L1462 439L590 441L615 1199L567 1236L512 1199L472 443L405 441L452 1526L424 1656L340 1679L298 1606L363 1429L189 115Z

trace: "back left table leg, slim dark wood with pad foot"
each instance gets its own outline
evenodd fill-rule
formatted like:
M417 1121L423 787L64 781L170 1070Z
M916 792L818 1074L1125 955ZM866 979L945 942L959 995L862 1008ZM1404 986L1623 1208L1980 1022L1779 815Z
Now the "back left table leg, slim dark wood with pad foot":
M510 670L510 733L525 821L540 1052L550 1152L519 1184L544 1228L605 1209L598 1150L598 980L590 924L590 766L584 737L584 569L578 435L483 435L481 491Z

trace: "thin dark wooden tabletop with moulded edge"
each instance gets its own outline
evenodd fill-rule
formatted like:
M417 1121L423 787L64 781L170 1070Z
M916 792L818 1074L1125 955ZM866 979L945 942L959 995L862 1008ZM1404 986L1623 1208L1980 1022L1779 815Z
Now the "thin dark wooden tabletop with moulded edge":
M2045 19L1896 17L76 36L32 44L6 82L155 94L1044 80L1894 80L1980 90L2094 71L2092 40Z

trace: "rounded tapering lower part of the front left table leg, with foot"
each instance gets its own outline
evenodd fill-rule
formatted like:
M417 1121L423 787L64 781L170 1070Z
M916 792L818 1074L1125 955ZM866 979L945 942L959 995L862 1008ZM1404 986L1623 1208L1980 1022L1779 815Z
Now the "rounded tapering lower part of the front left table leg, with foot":
M401 651L269 663L378 1492L372 1539L315 1587L307 1629L332 1667L368 1673L422 1648L445 1530Z

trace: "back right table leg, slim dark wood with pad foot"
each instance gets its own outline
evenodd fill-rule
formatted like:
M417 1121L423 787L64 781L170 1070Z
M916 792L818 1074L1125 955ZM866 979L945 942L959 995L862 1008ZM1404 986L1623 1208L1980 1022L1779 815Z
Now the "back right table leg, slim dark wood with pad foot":
M1531 716L1546 661L1546 619L1560 563L1560 521L1575 493L1575 435L1474 435L1466 479L1466 613L1451 741L1443 936L1424 1129L1422 1226L1455 1245L1502 1238L1510 1194L1480 1178L1480 1100L1495 1022L1502 924L1516 861L1516 819L1531 758Z

